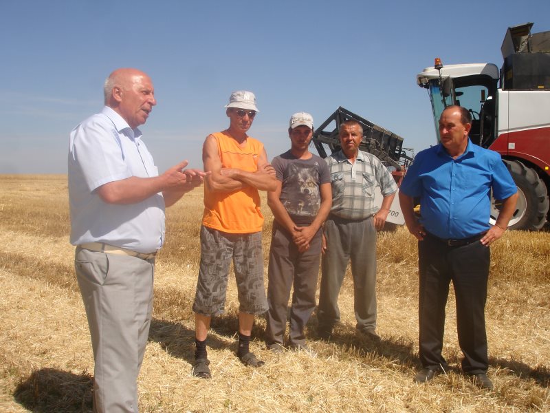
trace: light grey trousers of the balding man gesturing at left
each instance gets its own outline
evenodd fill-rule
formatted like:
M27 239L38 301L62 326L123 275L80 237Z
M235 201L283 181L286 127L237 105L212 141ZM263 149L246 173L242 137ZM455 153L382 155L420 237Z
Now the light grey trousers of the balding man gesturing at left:
M137 375L153 310L155 259L76 248L94 350L94 411L137 412Z

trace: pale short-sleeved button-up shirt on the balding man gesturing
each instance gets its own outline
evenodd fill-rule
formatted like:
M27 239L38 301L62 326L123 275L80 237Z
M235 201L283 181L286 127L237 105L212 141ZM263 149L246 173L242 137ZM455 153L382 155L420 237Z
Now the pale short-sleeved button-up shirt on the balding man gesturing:
M108 204L96 189L137 176L158 176L140 129L110 107L73 129L69 142L71 243L104 242L151 253L164 240L164 198L157 193L133 204Z

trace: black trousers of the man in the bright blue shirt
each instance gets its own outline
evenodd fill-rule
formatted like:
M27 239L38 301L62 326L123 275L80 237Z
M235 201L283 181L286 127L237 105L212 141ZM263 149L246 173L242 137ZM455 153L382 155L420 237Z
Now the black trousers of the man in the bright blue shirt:
M445 369L441 354L445 328L445 304L452 281L456 297L456 329L464 354L466 374L487 372L485 302L491 253L476 241L465 246L447 246L427 235L418 243L419 350L423 367Z

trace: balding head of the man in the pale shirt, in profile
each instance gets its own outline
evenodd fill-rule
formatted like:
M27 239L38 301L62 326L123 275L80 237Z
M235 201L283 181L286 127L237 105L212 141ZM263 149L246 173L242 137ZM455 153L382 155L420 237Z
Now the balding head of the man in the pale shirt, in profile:
M144 124L157 104L151 78L137 69L115 70L105 81L103 92L105 105L122 116L132 129Z

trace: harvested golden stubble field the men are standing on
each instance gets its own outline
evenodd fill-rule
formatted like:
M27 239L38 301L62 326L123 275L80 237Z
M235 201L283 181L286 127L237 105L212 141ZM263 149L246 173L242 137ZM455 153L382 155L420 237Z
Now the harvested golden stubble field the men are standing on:
M266 361L246 368L236 350L236 288L212 322L211 380L191 376L191 311L199 262L202 190L167 215L157 258L155 309L140 374L142 412L548 412L550 410L550 233L507 232L492 246L487 301L489 377L476 388L459 370L450 295L444 354L452 371L426 385L418 368L416 242L404 228L378 241L380 343L355 335L353 288L340 296L342 325L317 353L265 350L257 319L252 350ZM266 217L265 257L272 214ZM69 245L66 176L0 176L0 411L89 412L94 363ZM267 287L267 286L266 286Z

